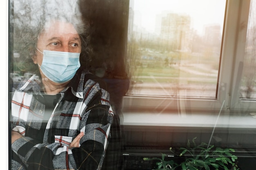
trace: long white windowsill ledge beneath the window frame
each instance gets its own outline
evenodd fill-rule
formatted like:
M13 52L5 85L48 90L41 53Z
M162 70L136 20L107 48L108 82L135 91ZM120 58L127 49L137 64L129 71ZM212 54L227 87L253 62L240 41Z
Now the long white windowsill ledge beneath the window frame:
M218 119L217 123L216 120ZM221 114L173 114L150 112L124 112L121 116L124 126L170 126L213 128L256 128L256 118L252 115Z

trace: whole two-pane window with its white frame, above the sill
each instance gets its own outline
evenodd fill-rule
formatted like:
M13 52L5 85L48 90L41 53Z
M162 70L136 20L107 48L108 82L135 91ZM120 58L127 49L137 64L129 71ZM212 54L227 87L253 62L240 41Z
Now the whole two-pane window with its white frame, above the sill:
M124 108L254 110L254 3L130 1Z

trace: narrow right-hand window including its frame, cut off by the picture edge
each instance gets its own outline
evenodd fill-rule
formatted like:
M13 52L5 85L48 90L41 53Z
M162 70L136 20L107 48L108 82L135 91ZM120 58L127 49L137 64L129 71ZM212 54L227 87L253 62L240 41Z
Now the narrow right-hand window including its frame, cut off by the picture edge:
M230 107L242 113L255 111L255 0L240 4L240 16L230 89ZM254 115L254 113L250 113Z

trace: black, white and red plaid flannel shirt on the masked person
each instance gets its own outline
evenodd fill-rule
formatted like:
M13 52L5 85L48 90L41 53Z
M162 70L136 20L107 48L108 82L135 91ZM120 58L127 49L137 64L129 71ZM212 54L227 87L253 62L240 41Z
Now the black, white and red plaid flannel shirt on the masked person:
M11 101L12 129L24 136L11 145L20 159L20 163L12 160L12 170L101 169L113 119L105 83L79 69L61 91L42 142L32 138L42 126L45 109L34 95L41 89L35 77L25 79ZM80 147L68 148L80 132L84 132Z

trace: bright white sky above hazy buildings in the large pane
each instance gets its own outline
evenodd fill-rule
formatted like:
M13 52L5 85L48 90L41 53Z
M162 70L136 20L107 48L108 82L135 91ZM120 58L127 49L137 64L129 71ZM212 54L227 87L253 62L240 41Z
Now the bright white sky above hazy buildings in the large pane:
M188 14L192 18L192 26L202 33L207 24L224 22L226 0L133 0L130 3L135 13L140 13L141 19L134 24L141 25L149 32L155 31L156 15L162 11Z

